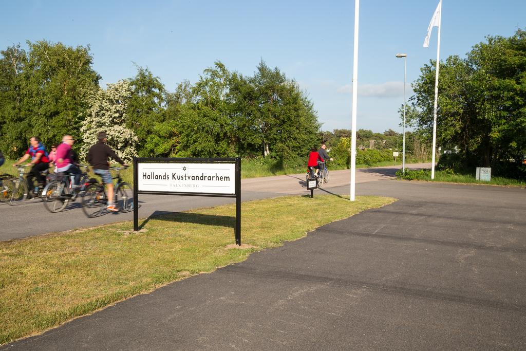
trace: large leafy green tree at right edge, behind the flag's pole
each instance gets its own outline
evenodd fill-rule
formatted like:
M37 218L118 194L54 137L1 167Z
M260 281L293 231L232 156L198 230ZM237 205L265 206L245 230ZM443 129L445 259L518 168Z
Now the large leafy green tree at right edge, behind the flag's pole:
M457 146L466 166L503 173L512 160L516 173L526 154L526 32L486 39L441 63L437 142ZM421 135L431 135L434 72L434 62L424 65L413 83L408 117Z

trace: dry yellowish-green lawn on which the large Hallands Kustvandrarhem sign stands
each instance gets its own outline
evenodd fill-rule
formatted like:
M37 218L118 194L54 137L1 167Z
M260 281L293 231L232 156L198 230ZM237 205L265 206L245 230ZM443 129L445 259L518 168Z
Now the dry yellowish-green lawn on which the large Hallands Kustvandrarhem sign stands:
M141 232L121 222L0 242L0 344L393 201L317 195L243 203L241 248L231 245L235 205L150 218Z

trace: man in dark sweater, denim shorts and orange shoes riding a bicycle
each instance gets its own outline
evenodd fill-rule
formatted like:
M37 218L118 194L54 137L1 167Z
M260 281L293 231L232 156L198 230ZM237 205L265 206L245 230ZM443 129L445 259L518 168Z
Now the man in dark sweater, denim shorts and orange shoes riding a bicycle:
M106 143L108 136L106 132L99 132L97 134L98 143L89 148L86 160L93 167L93 172L102 177L103 182L108 189L108 206L107 210L118 212L118 208L113 203L113 178L109 173L108 157L112 157L115 161L123 166L128 166L120 159L115 152Z

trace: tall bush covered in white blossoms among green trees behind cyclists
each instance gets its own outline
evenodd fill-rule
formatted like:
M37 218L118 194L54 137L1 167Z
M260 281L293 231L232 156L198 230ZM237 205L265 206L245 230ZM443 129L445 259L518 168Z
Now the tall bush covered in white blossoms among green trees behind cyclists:
M106 90L100 89L90 98L90 108L84 124L80 127L84 140L80 147L82 158L86 158L89 148L98 142L98 132L107 133L108 146L114 149L123 161L130 162L137 156L138 138L133 130L126 127L126 109L131 93L130 82L124 80L108 84Z

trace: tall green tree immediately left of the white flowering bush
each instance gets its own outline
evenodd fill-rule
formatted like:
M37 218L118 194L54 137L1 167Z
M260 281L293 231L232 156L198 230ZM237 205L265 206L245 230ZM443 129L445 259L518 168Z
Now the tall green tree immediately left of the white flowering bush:
M72 134L82 141L79 128L87 99L98 89L89 46L65 46L47 41L28 42L22 71L22 118L25 136L39 135L44 142L59 142Z

